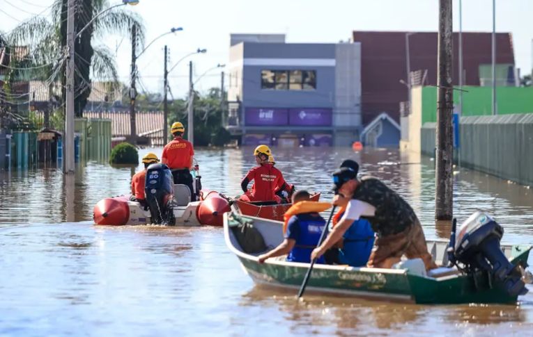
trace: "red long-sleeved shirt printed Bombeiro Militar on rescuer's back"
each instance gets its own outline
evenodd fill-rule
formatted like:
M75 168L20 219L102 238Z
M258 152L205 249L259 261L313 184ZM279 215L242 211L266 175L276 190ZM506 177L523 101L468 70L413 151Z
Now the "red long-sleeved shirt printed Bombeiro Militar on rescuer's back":
M252 195L250 199L253 202L268 202L275 200L275 191L279 190L285 183L283 174L274 165L267 163L256 166L249 170L245 179L254 181L252 185Z

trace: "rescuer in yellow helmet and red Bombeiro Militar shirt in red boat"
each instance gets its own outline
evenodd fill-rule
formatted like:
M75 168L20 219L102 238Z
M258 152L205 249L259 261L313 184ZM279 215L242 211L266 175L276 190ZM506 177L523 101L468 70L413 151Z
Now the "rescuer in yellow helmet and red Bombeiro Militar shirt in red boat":
M259 145L254 150L254 156L258 166L249 170L245 178L242 179L240 187L245 194L240 199L244 202L279 203L281 198L276 195L276 192L285 190L287 193L291 193L291 190L290 186L285 182L281 171L268 161L269 157L272 156L270 147ZM254 185L252 185L252 190L249 191L248 184L252 180Z

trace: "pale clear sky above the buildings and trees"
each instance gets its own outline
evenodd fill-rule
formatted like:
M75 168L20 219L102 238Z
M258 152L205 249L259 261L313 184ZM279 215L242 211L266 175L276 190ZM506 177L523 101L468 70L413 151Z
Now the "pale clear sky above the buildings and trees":
M49 3L52 0L0 0L0 31L10 31L17 20L30 16L25 12L39 13ZM458 3L454 0L454 31L458 31ZM496 30L513 34L516 64L522 74L529 73L533 0L497 0L496 7ZM172 26L184 28L176 35L158 40L139 58L142 86L159 92L163 87L164 44L169 45L171 63L198 47L208 49L207 54L190 58L194 62L194 74L199 76L217 63L227 63L230 33L286 33L287 42L339 42L348 40L353 30L437 31L438 28L438 0L140 0L138 6L130 6L128 10L143 17L147 41ZM491 30L492 0L463 0L463 31ZM116 50L121 80L127 81L130 42L121 36L109 36L103 42ZM169 79L174 97L185 94L187 76L184 61ZM196 88L207 90L219 83L217 70L204 76Z

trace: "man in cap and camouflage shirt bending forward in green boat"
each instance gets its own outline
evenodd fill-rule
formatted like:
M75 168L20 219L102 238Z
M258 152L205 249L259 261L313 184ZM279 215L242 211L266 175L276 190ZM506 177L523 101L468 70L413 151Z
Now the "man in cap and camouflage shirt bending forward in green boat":
M322 245L316 247L311 258L318 258L332 247L350 228L364 217L369 220L376 240L368 263L370 268L391 268L403 254L408 258L422 258L426 270L437 268L429 254L422 226L415 211L385 183L372 177L357 179L359 165L355 161L343 161L333 173L333 204L341 206L343 217L328 234Z

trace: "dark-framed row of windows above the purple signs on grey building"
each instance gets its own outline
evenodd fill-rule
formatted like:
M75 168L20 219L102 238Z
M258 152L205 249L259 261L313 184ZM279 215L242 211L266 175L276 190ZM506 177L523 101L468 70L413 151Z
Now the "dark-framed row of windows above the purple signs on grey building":
M261 89L315 90L315 70L262 70Z

